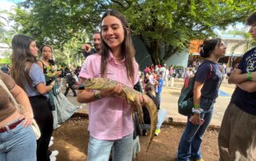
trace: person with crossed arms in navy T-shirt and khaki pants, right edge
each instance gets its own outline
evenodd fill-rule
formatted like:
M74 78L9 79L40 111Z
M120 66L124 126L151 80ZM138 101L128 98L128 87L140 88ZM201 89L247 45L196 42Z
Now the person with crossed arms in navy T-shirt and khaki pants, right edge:
M256 40L256 12L247 19ZM256 48L246 52L229 78L237 84L218 134L220 160L248 160L256 156Z

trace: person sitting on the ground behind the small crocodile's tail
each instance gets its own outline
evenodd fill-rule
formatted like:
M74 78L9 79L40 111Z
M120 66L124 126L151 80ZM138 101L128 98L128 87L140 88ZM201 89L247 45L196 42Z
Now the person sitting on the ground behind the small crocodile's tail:
M161 132L160 128L162 126L162 123L166 118L166 109L165 108L160 109L159 100L157 97L155 97L153 95L153 93L154 93L154 85L153 84L150 84L150 83L146 84L145 93L147 96L149 96L154 101L154 104L158 108L158 124L157 124L156 130L154 132L154 135L159 135L159 133ZM143 120L144 120L144 125L142 125L142 135L146 135L146 130L150 129L150 113L146 107L142 107L142 111L143 111Z

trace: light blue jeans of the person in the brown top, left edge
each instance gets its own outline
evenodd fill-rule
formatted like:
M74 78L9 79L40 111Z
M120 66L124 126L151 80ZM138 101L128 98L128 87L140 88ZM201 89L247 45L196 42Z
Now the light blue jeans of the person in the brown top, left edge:
M15 120L14 122L17 121ZM0 133L1 161L35 161L37 159L37 142L34 132L31 127L22 127L22 124L23 121L17 127Z

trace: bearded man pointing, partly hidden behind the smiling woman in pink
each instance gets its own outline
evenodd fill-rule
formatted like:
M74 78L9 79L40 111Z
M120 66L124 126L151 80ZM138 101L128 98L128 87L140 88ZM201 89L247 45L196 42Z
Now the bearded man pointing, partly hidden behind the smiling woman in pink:
M99 32L93 34L94 49L91 49L89 44L82 45L82 54L84 57L88 57L94 53L100 53L102 49L101 34Z

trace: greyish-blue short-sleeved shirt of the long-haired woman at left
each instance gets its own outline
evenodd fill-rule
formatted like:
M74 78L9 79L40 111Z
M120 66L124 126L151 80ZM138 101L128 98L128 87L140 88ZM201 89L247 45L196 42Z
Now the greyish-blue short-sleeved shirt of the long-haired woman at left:
M36 86L39 83L46 84L46 77L42 73L42 69L40 69L40 67L36 63L33 63L31 65L31 68L30 68L30 78L32 80L32 86L30 84L28 84L27 81L24 81L24 88L25 88L27 96L38 96L38 95L41 95L38 92L38 90L36 89ZM45 93L43 95L48 97L47 93Z

